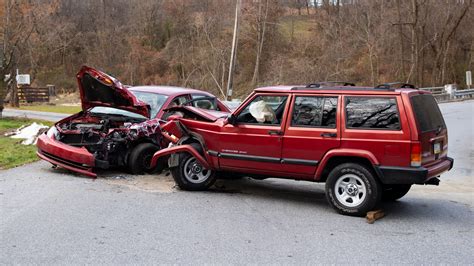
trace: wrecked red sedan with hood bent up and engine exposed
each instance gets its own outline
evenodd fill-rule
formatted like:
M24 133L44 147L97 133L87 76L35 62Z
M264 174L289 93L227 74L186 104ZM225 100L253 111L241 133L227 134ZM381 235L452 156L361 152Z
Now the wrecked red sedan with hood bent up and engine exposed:
M53 165L92 177L96 176L96 168L123 167L133 174L153 171L152 155L169 143L160 134L160 121L166 119L164 110L168 107L188 105L209 112L230 112L204 91L127 87L87 66L79 71L77 81L82 111L41 135L37 155Z

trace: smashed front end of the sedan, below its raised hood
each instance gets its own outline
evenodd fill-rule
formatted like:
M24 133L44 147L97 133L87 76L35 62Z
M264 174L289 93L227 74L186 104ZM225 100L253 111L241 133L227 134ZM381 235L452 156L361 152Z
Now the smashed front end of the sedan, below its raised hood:
M110 124L87 114L71 116L38 138L37 155L53 165L95 177L94 168L127 166L129 152L137 143L167 145L162 141L158 119L106 126Z

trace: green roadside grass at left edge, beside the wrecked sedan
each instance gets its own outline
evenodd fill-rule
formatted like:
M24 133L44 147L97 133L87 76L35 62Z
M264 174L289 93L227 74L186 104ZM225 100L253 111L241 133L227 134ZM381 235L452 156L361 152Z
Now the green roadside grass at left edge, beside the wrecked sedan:
M15 130L33 122L51 126L52 123L41 120L2 118L0 119L0 169L12 168L37 161L35 145L22 145L22 139L12 139L5 132Z

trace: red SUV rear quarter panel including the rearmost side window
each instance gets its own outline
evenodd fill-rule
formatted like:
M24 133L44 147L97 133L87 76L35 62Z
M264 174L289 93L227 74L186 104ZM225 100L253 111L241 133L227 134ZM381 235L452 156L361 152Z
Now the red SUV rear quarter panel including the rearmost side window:
M380 165L410 165L410 127L400 94L345 95L341 148L368 152Z

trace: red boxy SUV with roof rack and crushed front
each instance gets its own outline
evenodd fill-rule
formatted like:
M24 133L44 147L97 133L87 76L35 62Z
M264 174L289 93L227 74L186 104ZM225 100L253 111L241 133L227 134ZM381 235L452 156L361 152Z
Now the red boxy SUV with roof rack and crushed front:
M226 118L171 108L163 135L180 188L203 190L218 175L326 182L340 213L365 215L413 184L438 185L453 166L443 116L429 92L412 85L346 83L256 89Z

